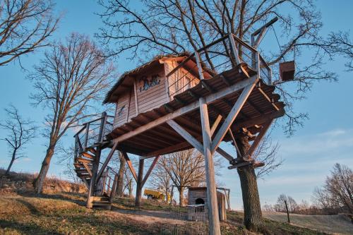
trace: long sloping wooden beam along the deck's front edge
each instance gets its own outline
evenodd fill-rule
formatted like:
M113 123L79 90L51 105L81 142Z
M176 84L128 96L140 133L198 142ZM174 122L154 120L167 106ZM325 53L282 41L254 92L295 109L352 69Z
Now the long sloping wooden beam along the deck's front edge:
M207 95L205 96L206 103L209 104L211 102L214 102L215 100L219 100L222 97L225 97L234 92L237 92L245 88L247 85L251 85L255 83L257 80L258 78L256 76L253 76L249 79L242 80L239 83L236 83L228 88L225 88L224 90L220 90L218 92ZM155 126L158 126L168 120L175 119L178 116L192 112L193 110L198 109L198 107L199 107L198 101L192 102L191 104L188 104L185 107L181 107L180 109L177 109L172 113L166 114L164 116L161 116L158 119L155 119L155 121L151 121L150 123L146 123L145 125L140 126L133 131L120 135L116 138L116 140L119 143L122 143L124 140L127 140L128 138L132 138L133 136L143 133L144 131L147 131L150 128L154 128Z

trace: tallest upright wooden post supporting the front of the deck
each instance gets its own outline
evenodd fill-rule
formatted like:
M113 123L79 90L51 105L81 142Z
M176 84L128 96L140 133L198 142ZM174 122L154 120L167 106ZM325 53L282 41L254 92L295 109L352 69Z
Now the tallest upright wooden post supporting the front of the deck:
M208 221L210 234L220 235L220 217L218 215L217 190L215 183L215 169L213 165L213 154L211 152L210 121L208 119L208 108L204 98L200 98L201 126L203 133L203 155L205 157L205 171L208 198Z

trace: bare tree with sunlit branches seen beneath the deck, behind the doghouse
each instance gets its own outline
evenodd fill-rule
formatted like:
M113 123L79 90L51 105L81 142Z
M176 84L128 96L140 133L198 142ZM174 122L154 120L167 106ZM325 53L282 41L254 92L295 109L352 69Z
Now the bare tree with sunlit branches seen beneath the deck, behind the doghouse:
M200 186L205 182L205 160L203 155L196 150L184 150L165 155L161 157L158 164L169 175L174 186L177 186L180 205L184 203L186 187ZM215 167L220 167L220 165L219 157L215 157ZM219 171L216 170L216 172Z

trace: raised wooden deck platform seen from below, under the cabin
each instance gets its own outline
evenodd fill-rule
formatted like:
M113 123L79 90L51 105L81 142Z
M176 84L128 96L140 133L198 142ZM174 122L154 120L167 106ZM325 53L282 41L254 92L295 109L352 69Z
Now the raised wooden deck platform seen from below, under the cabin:
M242 88L256 79L256 71L246 64L239 64L236 68L203 80L202 83L176 95L174 100L157 109L138 114L128 123L109 133L107 140L115 140L119 143L118 149L142 157L155 157L192 148L193 146L174 131L167 121L176 121L190 135L202 142L198 99L205 97L211 125L215 121L222 124L237 102ZM285 105L279 101L280 95L275 94L274 90L275 87L272 85L266 85L261 79L258 80L256 88L252 90L231 126L234 135L240 128L247 128L256 134L263 123L285 114ZM219 126L221 125L218 125L218 128ZM213 133L216 132L217 128L213 130ZM231 137L225 135L223 141L230 140Z

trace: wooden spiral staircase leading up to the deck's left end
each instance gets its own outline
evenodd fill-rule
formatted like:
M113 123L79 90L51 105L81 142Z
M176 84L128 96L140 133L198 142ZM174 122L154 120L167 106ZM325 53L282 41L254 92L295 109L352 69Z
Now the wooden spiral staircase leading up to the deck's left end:
M107 121L107 117L104 113L102 118L84 123L83 128L76 133L73 167L88 188L87 207L105 207L110 210L116 192L117 174L107 163L100 162L101 150L109 146L105 134L107 126L112 123Z

